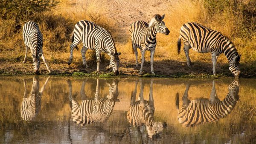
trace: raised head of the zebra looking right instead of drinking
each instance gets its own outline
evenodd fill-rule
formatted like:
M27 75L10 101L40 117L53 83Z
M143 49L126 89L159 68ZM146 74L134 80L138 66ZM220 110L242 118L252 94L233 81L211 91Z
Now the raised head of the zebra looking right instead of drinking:
M166 25L163 21L163 18L164 18L164 14L163 14L163 16L160 16L160 14L155 14L153 16L153 18L151 19L151 21L149 23L149 26L154 24L156 32L159 32L159 33L164 34L164 35L169 35L170 31L166 27Z

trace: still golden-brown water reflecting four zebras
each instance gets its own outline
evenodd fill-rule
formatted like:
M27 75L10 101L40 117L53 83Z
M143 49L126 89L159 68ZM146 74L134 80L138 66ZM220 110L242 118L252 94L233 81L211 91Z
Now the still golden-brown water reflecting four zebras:
M0 143L256 143L256 79L0 77Z

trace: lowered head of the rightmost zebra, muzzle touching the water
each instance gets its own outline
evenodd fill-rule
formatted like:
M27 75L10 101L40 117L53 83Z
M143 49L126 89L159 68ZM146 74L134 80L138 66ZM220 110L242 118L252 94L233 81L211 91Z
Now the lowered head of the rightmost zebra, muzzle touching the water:
M241 71L239 69L240 57L241 57L241 55L236 55L230 61L229 70L230 70L230 72L233 73L233 75L235 75L235 78L239 78L239 75L241 73Z

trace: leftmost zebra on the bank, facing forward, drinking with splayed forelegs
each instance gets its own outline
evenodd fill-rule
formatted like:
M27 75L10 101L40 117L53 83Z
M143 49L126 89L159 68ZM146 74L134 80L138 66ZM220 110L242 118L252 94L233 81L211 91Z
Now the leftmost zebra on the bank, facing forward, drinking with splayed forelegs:
M49 72L49 66L43 54L43 35L37 23L29 21L23 26L23 40L26 46L26 53L23 63L26 63L28 49L31 50L35 74L39 74L40 58L42 57Z

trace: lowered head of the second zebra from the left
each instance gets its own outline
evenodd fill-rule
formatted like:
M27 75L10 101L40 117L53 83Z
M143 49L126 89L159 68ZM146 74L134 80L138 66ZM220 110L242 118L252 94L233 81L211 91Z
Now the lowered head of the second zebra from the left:
M113 69L113 72L115 75L119 75L119 71L118 71L118 66L119 66L119 55L121 55L120 52L116 52L116 53L111 53L110 55L110 63L109 66L107 67L107 69Z

